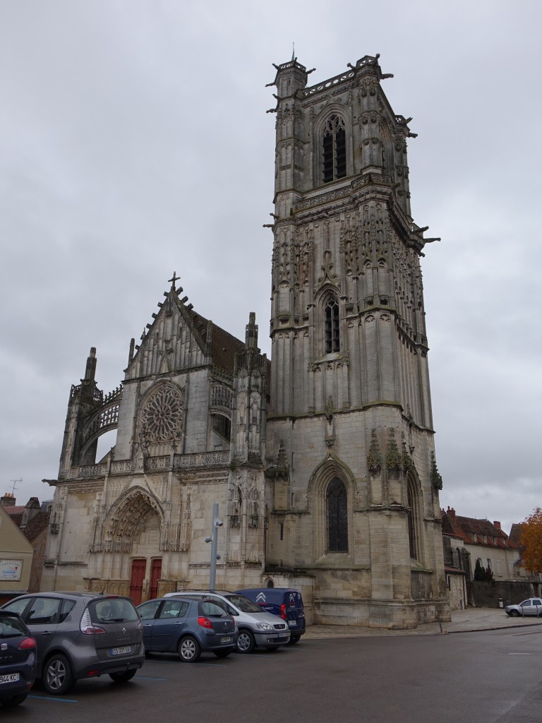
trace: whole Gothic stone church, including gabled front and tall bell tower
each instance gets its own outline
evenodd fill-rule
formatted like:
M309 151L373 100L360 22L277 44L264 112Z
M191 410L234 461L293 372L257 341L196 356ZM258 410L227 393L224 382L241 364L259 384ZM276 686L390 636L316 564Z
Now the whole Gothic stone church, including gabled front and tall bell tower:
M413 134L378 56L311 86L296 59L276 70L271 360L253 314L234 338L175 274L108 395L91 349L42 589L205 588L218 535L218 588L297 586L319 623L446 620Z

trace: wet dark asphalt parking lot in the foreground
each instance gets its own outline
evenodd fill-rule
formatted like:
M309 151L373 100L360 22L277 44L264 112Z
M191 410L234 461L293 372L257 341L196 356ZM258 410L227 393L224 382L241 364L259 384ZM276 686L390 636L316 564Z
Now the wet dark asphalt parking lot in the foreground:
M104 676L67 696L35 689L9 719L538 723L541 663L542 628L533 624L434 635L307 633L296 646L227 659L150 656L124 685Z

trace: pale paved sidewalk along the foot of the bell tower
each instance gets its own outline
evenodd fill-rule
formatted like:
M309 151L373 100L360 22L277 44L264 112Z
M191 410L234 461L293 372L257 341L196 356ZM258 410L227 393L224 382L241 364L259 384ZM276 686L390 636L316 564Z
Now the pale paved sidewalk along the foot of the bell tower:
M442 625L442 630L441 630ZM303 640L324 638L375 638L388 636L441 635L468 633L474 630L498 630L499 628L524 628L542 625L540 617L508 617L503 609L469 607L452 612L451 623L427 623L414 630L387 630L386 628L361 628L358 625L309 625Z

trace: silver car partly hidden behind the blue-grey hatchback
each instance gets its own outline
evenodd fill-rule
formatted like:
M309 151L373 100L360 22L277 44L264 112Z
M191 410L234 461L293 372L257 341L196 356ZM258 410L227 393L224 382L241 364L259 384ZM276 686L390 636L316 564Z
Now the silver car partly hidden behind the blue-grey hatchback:
M181 590L165 594L165 597L171 596L212 600L232 615L238 628L238 653L251 653L257 646L275 649L290 640L290 630L282 618L265 612L243 595L227 590Z

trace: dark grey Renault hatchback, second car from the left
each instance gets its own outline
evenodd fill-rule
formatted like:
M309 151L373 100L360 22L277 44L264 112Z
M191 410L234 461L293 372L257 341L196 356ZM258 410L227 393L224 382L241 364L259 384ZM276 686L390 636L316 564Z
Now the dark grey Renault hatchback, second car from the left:
M145 662L141 620L128 597L93 592L22 595L1 608L17 612L38 645L39 678L48 693L107 674L131 680Z

